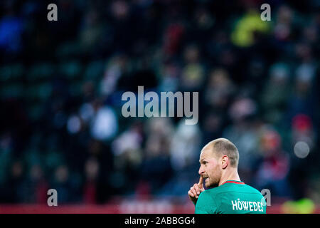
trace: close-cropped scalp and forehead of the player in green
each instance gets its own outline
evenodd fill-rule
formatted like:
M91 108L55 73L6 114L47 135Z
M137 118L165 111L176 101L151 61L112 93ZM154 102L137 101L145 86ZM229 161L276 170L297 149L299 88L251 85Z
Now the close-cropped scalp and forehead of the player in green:
M238 167L239 163L239 152L238 148L235 147L233 142L227 140L226 138L218 138L209 142L205 145L201 152L208 151L215 158L222 157L223 155L227 155L230 160L231 167Z

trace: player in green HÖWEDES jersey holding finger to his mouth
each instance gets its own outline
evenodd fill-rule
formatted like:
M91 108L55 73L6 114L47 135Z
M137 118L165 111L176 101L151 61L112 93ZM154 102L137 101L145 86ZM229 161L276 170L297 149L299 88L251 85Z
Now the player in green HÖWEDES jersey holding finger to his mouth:
M200 180L188 191L196 214L266 213L262 194L240 180L238 161L238 149L230 140L218 138L203 147ZM203 180L210 189L204 190Z

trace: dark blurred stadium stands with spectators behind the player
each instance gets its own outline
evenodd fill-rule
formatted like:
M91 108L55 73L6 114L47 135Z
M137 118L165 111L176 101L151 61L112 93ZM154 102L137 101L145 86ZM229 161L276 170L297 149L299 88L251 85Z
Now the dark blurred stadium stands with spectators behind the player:
M193 213L201 147L225 137L267 212L319 213L319 7L1 1L0 212ZM123 118L137 86L199 91L198 124Z

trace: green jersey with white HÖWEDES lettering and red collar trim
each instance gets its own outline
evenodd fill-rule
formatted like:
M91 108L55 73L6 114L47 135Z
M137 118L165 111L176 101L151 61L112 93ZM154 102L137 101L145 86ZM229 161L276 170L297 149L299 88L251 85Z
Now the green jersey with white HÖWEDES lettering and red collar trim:
M219 187L201 192L196 214L265 214L262 194L244 182L228 180Z

